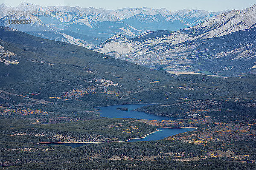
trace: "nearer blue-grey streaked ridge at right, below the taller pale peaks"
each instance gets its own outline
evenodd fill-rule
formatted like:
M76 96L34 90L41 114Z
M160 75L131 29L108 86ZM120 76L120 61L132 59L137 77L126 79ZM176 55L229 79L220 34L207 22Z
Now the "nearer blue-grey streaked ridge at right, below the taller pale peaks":
M209 71L223 76L256 74L256 28L119 58L166 70Z

